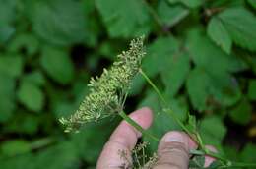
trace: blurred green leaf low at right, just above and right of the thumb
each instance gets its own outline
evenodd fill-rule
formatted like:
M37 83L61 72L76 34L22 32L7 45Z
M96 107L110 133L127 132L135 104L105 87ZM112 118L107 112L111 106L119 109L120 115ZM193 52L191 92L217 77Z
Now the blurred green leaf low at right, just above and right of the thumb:
M226 128L220 117L209 116L201 121L200 134L204 142L219 147L226 134Z

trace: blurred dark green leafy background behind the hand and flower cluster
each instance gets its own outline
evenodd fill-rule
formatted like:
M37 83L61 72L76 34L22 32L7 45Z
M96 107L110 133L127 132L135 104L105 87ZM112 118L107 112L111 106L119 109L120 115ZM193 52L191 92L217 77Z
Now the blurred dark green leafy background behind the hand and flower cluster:
M1 169L94 168L120 119L67 135L58 118L142 34L142 67L176 115L190 111L205 142L255 161L255 15L255 0L0 0ZM138 75L126 109L141 106L154 110L157 136L180 129Z

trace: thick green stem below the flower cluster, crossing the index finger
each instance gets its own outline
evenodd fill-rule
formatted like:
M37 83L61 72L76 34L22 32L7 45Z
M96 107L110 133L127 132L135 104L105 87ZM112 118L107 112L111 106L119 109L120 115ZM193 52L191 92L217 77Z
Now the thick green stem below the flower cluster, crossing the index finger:
M147 137L151 138L151 139L154 140L154 141L157 141L157 142L160 141L157 137L153 136L150 132L144 130L144 129L143 129L140 125L138 125L133 119L131 119L129 116L127 116L124 111L119 112L119 115L120 115L127 123L129 123L129 124L130 124L131 126L133 126L135 129L137 129L139 132L141 132L142 135L147 136Z

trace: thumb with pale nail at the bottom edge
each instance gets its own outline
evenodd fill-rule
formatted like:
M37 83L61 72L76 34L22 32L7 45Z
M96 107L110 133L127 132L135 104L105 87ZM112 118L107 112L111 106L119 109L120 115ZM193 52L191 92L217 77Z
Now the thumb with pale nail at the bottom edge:
M168 132L160 141L159 161L154 169L187 169L189 137L180 132Z

